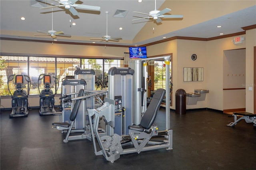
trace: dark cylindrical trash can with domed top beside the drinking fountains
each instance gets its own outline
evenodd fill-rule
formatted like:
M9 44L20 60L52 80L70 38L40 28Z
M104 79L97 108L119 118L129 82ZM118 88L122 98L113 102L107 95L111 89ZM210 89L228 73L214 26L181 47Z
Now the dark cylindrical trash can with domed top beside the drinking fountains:
M176 99L176 113L182 115L186 114L186 91L178 89L175 93Z

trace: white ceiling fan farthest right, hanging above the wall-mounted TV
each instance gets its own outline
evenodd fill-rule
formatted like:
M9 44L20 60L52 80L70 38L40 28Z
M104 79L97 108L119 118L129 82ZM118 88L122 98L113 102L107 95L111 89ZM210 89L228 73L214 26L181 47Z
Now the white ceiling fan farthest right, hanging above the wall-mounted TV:
M170 11L171 11L171 9L169 9L169 8L165 8L162 11L156 10L156 0L155 0L155 10L150 11L149 14L142 13L142 12L136 12L136 13L148 15L148 17L145 17L145 18L148 18L148 19L153 18L154 20L156 20L157 23L162 21L161 18L183 18L183 15L163 15ZM141 19L145 19L145 18L138 18L138 19L134 19L134 20L141 20ZM134 20L132 20L132 21L134 21Z

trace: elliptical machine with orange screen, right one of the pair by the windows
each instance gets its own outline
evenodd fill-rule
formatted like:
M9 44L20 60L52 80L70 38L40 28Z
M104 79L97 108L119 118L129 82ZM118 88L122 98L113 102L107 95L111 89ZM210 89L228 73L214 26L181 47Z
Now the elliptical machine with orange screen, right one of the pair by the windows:
M52 83L51 78L53 78L54 83ZM44 89L40 91L40 84L44 83ZM55 86L54 86L55 85ZM58 85L58 86L57 86ZM55 93L51 88L57 87ZM50 76L46 74L40 74L38 77L38 90L40 93L40 110L39 115L54 115L56 111L54 109L54 96L56 95L59 87L58 78L55 76Z

